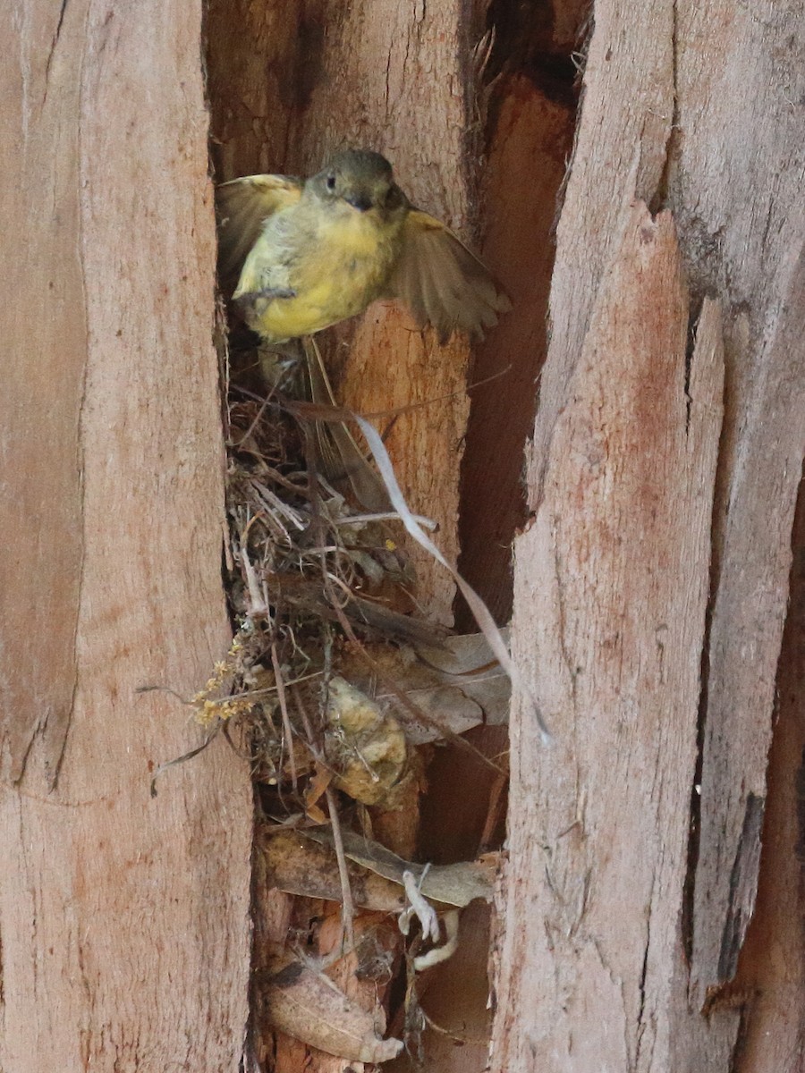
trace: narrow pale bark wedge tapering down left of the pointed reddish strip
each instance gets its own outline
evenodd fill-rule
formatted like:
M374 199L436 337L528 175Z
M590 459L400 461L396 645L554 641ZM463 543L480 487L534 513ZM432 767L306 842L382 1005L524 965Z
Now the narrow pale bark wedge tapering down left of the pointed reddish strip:
M653 0L640 25L633 23L628 3L606 0L596 5L575 149L556 232L550 361L540 381L528 477L532 504L541 495L548 441L623 218L634 197L652 205L667 167L673 121L673 25L671 0Z

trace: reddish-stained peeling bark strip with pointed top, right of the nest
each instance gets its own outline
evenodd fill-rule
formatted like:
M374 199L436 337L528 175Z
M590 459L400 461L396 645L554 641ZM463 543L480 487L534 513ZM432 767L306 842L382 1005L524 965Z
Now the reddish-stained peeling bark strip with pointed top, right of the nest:
M541 749L515 706L495 1070L671 1069L721 427L718 324L707 304L686 391L673 223L638 203L516 546L516 655L557 744Z

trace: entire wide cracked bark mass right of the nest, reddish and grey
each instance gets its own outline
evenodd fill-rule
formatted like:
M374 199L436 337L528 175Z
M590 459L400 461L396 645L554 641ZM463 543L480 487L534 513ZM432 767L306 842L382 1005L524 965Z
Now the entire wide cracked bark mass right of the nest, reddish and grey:
M515 546L556 741L515 700L494 1070L802 1068L801 961L756 941L788 1017L736 978L805 440L802 15L595 5Z

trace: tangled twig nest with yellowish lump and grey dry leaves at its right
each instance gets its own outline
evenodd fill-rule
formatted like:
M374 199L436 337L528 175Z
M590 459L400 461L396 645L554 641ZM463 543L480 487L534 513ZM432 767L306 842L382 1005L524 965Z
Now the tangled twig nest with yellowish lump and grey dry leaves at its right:
M368 470L354 440L331 440L332 423L319 417L326 408L301 414L275 379L267 398L241 388L226 412L226 572L238 629L192 703L203 723L236 719L255 779L277 788L283 811L321 822L316 803L331 783L395 808L406 779L419 777L412 747L453 738L469 748L457 735L504 718L508 681L484 636L445 640L416 617L396 516L355 506L354 482L336 487L332 458L320 465L330 453L342 470Z

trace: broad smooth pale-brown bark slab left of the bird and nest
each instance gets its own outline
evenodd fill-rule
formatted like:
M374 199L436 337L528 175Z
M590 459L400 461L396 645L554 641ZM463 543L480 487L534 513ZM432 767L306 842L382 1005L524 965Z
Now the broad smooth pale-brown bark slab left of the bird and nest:
M201 5L0 17L0 1067L234 1073L248 773L219 743L150 799L201 732L135 693L193 693L230 636Z

